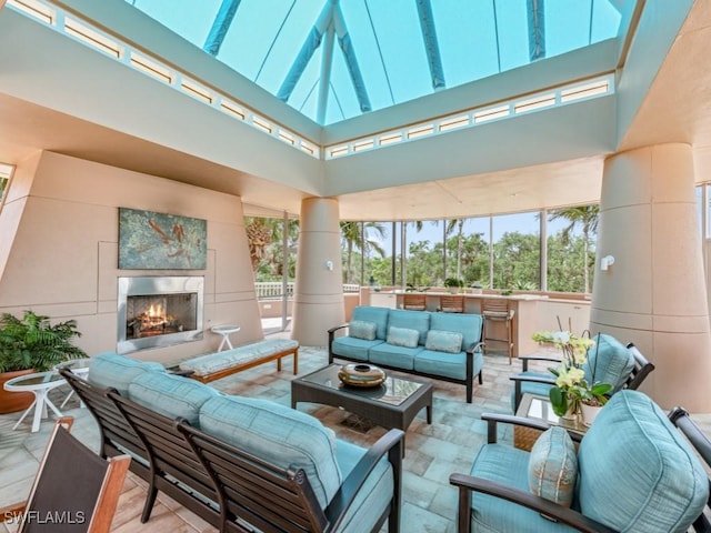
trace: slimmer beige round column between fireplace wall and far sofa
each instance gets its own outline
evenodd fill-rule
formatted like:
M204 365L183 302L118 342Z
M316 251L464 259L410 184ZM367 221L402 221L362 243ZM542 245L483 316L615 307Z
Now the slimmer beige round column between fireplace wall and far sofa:
M338 201L301 202L292 338L304 346L323 346L329 328L344 322L341 231Z

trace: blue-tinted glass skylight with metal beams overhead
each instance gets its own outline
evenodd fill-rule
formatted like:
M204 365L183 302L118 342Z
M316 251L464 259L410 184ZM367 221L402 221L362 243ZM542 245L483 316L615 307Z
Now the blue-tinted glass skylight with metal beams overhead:
M126 1L322 124L617 37L621 21L620 0Z

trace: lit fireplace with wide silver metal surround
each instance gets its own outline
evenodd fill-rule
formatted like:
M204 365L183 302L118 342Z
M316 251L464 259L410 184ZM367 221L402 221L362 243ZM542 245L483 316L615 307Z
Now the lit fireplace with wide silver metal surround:
M202 276L119 278L118 353L202 339Z

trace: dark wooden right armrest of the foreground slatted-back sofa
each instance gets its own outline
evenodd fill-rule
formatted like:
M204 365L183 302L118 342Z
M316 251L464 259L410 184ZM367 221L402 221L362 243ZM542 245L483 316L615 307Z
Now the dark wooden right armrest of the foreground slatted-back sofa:
M392 464L393 479L393 502L391 505L400 506L400 484L402 480L402 455L403 455L404 432L401 430L390 430L381 436L365 454L360 459L351 473L343 480L341 487L333 495L331 503L326 509L326 515L332 524L332 531L338 531L341 521L349 511L353 500L358 495L361 486L375 467L378 462L388 454L388 460ZM399 510L398 510L399 512Z

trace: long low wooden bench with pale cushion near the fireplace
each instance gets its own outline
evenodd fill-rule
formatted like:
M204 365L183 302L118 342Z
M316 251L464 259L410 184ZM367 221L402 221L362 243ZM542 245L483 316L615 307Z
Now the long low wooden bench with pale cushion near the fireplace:
M281 358L293 354L293 373L299 372L299 343L291 339L266 339L242 346L210 353L180 363L180 370L193 380L209 383L221 378L251 369L270 361L277 361L281 372Z

